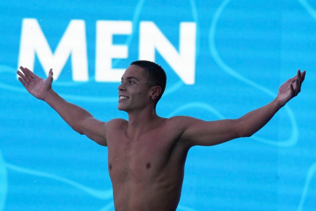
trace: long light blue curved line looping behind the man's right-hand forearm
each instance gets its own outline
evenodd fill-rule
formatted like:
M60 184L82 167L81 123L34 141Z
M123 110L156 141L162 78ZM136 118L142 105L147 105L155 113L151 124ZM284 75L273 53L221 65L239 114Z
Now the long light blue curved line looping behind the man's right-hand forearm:
M262 90L263 92L267 93L268 95L275 97L276 94L268 89L266 89L265 87L256 84L254 82L252 82L251 80L243 77L242 75L240 75L239 73L237 73L236 71L234 71L232 68L230 68L228 65L226 65L223 60L221 59L221 57L219 56L216 47L215 47L215 31L216 31L216 24L218 21L219 16L221 15L223 9L226 7L226 5L229 3L230 0L225 0L220 7L216 10L214 18L212 20L211 23L211 27L210 27L210 32L209 32L209 40L210 40L210 53L213 57L213 59L215 60L216 64L219 65L224 71L226 71L229 75L233 76L234 78L239 79L240 81L249 84L259 90ZM290 121L292 123L292 127L293 127L293 131L292 131L292 136L290 139L285 140L285 141L269 141L269 140L265 140L265 139L261 139L258 137L254 137L255 140L258 141L262 141L266 144L270 144L270 145L276 145L276 146L294 146L297 143L298 140L298 129L297 129L297 125L296 125L296 121L295 121L295 117L292 114L291 110L286 107L286 111L289 114L289 118Z

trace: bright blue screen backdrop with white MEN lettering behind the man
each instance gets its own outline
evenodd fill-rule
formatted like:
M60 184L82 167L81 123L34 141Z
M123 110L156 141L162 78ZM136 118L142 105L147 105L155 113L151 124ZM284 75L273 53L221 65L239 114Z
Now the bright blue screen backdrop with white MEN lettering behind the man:
M0 210L114 210L107 148L17 80L20 65L95 118L118 111L129 64L167 73L162 117L234 119L306 70L301 93L250 138L190 149L177 210L316 208L316 1L0 2Z

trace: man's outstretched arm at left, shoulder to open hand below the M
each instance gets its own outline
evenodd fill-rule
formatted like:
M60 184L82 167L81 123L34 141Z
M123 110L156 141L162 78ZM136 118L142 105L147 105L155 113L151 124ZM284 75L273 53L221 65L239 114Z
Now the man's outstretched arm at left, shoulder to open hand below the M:
M100 145L106 146L106 122L96 120L87 110L65 101L52 90L53 71L44 80L27 68L17 71L19 81L34 97L47 102L76 132L85 134Z

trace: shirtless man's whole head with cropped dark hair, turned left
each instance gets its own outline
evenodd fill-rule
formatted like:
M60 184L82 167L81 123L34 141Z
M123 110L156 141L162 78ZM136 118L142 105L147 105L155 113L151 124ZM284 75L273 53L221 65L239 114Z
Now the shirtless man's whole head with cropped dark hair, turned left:
M149 102L154 102L155 108L166 88L166 82L166 73L160 65L144 60L132 62L118 87L121 96L118 109L128 111L142 108ZM124 100L122 96L127 98Z

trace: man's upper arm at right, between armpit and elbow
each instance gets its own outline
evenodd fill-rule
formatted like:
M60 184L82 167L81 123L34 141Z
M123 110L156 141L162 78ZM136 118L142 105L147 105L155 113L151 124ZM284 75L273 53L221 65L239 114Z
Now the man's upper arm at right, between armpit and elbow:
M237 120L197 121L183 136L190 146L213 146L239 137Z

